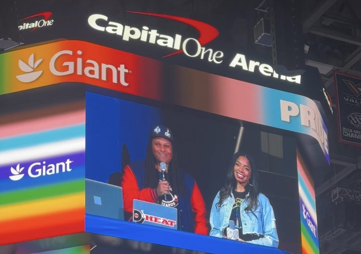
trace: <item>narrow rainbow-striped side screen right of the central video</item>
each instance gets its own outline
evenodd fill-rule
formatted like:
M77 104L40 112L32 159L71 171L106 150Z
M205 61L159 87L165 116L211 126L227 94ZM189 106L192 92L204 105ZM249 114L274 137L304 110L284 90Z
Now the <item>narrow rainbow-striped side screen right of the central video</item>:
M299 152L297 152L297 171L300 195L302 253L319 254L314 184Z

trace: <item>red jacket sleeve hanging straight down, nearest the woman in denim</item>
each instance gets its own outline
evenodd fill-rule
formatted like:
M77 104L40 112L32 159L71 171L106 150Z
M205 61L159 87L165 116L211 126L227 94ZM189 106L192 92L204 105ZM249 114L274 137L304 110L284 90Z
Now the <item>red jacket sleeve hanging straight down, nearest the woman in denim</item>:
M191 197L192 210L196 214L195 216L195 228L194 232L200 235L208 235L208 229L205 220L205 204L202 194L198 188L198 185L194 183L192 197Z

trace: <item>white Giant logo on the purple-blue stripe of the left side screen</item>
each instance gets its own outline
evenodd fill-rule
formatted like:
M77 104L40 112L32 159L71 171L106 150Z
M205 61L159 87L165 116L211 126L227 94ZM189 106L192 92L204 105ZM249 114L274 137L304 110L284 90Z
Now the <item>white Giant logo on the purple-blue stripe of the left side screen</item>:
M46 176L46 175L54 175L59 173L65 173L70 172L71 167L70 164L74 161L70 161L70 159L67 159L65 162L58 162L58 163L47 163L46 161L43 162L35 162L32 163L27 168L27 174L31 178L37 178L40 176ZM21 167L20 164L18 164L15 168L10 167L10 172L12 175L9 176L9 178L13 181L18 181L23 178L25 174L21 174L21 172L25 169L25 167Z

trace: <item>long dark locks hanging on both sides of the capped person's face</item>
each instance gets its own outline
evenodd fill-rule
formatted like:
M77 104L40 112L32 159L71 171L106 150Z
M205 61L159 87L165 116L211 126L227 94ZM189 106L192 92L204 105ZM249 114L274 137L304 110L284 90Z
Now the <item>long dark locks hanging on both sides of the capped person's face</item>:
M169 162L168 166L167 180L176 194L183 194L186 192L186 187L184 185L182 172L178 167L178 158L174 142L172 143L172 153L172 160ZM156 158L154 157L152 150L152 138L150 138L147 147L147 155L145 157L144 188L153 189L158 186L158 171L155 168L156 163Z

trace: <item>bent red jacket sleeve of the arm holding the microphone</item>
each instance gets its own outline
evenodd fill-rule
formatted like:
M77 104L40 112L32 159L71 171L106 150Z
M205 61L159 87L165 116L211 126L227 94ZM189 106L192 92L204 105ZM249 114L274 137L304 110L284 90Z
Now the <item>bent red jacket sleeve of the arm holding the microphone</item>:
M139 191L138 183L129 166L124 168L122 181L124 210L128 213L133 212L133 200L142 200L151 203L158 201L156 189L146 188Z

